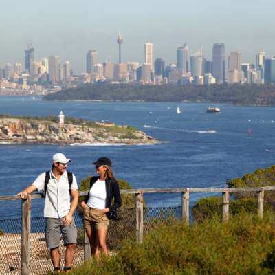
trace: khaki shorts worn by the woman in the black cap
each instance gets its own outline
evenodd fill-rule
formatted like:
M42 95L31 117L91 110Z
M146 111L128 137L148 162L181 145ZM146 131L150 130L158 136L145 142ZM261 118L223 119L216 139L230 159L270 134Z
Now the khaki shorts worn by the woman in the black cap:
M86 230L91 230L94 225L96 229L102 227L108 228L109 219L106 214L102 214L101 209L86 207L83 213L84 227Z

